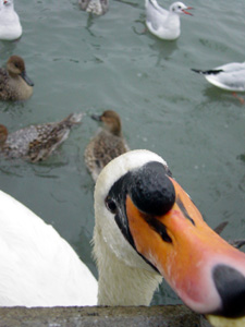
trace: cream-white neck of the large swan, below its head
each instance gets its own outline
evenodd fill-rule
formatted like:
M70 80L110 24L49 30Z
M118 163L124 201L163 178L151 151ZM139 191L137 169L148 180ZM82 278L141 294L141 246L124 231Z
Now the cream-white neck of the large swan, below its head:
M94 255L97 262L98 305L149 305L162 278L157 272L130 267L109 249L95 230Z

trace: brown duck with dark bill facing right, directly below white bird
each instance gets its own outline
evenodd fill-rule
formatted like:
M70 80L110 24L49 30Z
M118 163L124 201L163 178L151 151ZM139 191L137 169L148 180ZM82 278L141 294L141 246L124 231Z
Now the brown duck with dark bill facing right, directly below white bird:
M20 56L11 56L7 69L0 68L0 100L26 100L33 95L33 86Z

